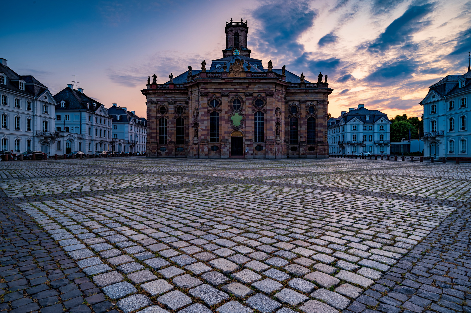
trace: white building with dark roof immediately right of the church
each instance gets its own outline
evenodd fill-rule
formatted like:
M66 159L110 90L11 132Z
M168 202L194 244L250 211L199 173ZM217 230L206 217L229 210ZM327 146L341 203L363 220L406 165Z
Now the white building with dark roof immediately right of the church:
M368 110L364 104L342 111L341 115L327 121L329 154L356 154L370 152L374 155L390 154L390 124L388 115Z

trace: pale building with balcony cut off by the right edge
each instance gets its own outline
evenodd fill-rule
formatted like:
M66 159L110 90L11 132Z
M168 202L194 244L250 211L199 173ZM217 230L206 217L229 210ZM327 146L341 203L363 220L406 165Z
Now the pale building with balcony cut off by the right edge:
M471 68L429 87L423 105L425 157L471 157Z

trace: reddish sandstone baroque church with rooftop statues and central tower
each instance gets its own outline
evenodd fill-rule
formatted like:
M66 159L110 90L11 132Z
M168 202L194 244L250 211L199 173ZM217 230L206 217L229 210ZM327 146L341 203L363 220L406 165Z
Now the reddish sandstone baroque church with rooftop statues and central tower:
M147 101L148 157L326 158L333 89L251 58L247 21L226 22L223 57L206 68L141 90Z

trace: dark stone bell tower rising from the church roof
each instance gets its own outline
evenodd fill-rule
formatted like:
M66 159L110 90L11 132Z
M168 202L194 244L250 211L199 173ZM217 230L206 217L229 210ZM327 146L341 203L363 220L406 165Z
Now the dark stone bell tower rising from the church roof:
M250 50L247 48L247 21L241 18L240 22L233 22L232 18L229 23L226 22L226 48L222 50L223 57L227 56L248 56Z

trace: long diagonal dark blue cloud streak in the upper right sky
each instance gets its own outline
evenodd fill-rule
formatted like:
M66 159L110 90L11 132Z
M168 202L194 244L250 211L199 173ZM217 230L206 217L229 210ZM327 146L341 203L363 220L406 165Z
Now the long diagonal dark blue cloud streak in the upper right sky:
M395 19L386 30L368 45L372 53L384 52L391 46L404 44L412 40L412 34L430 25L430 21L423 20L433 11L434 5L426 3L421 6L409 6L406 12Z

